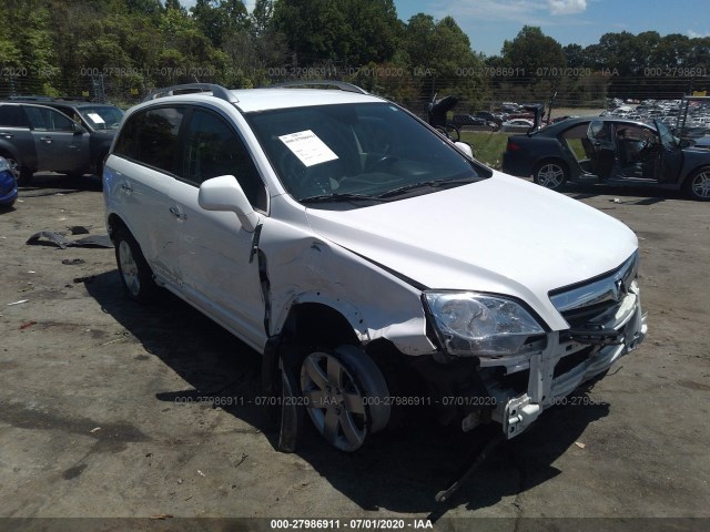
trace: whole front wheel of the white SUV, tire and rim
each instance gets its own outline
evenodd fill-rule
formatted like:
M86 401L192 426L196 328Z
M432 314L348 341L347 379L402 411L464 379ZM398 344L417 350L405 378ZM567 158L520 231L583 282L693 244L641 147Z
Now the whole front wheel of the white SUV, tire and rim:
M358 450L389 421L385 379L357 347L308 354L301 366L301 391L316 430L341 451Z

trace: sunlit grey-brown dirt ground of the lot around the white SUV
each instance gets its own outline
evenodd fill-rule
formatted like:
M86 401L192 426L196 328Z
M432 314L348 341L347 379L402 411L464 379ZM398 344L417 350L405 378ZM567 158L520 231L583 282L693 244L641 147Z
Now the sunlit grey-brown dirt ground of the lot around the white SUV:
M318 524L274 518L710 530L710 204L649 190L567 194L637 232L647 341L439 504L485 431L423 421L344 454L308 427L297 453L277 452L268 409L229 403L260 396L260 355L173 297L125 299L112 249L26 244L72 225L105 233L98 178L38 175L0 214L0 530Z

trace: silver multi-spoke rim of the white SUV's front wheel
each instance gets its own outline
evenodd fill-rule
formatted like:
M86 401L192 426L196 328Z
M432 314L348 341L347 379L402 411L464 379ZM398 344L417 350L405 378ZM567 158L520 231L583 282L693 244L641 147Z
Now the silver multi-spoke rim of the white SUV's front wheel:
M308 416L332 446L355 451L367 436L363 395L337 358L313 352L303 361L301 389Z

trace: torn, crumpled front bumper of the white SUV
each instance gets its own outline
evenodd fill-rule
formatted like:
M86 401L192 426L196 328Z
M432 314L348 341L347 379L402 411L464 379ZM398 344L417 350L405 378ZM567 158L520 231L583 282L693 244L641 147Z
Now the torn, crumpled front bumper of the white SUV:
M607 345L601 341L597 345L582 344L570 338L567 331L549 332L545 348L530 355L529 366L514 368L516 371L529 369L524 393L501 386L499 380L486 379L484 374L488 392L495 398L491 419L501 423L508 439L525 431L546 408L565 403L562 398L604 374L643 341L647 316L641 310L638 288L626 295L620 308L609 316L605 328L617 334L613 340L606 341Z

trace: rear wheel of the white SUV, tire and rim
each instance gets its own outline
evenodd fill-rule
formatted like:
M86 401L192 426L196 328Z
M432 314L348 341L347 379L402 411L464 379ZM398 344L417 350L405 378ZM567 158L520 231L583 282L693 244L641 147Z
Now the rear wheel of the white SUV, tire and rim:
M125 295L139 303L149 303L155 298L158 285L141 247L125 228L116 229L113 237L115 263L121 275Z

